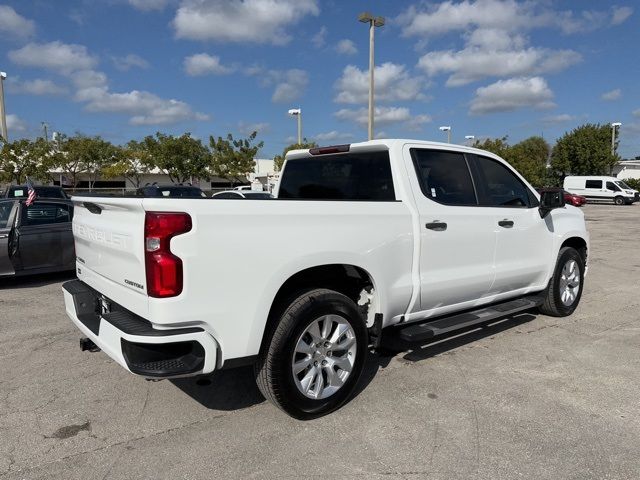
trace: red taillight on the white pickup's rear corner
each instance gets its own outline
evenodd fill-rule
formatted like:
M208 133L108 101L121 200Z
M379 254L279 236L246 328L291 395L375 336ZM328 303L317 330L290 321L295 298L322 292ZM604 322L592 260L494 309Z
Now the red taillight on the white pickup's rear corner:
M182 292L182 260L171 253L171 238L191 230L186 213L147 212L144 256L150 297L175 297Z

